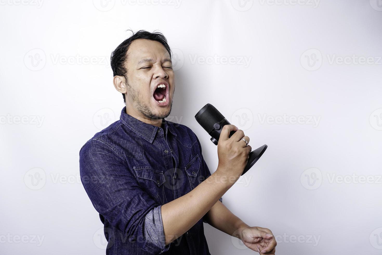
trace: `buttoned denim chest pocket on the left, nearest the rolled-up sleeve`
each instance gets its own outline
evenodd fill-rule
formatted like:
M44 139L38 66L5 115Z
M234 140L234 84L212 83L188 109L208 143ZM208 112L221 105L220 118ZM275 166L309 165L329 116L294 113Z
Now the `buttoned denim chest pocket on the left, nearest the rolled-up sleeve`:
M166 202L164 193L165 175L163 171L152 168L151 166L134 166L138 182L157 203L163 205Z

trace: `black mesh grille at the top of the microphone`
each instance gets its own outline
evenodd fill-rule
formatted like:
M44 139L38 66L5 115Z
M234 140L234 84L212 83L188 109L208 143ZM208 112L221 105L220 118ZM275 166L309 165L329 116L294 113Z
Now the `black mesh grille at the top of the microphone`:
M212 104L206 104L197 112L195 119L209 133L214 129L215 123L225 118Z

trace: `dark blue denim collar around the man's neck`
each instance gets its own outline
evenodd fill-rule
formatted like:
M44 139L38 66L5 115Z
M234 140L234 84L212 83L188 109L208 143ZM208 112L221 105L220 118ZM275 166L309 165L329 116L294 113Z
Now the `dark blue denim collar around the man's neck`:
M162 129L162 132L166 133L167 137L167 130L170 130L170 133L177 136L175 133L175 130L173 129L173 125L171 122L162 119L162 127L159 128L157 126L147 124L141 120L138 120L134 118L133 116L126 113L126 106L123 107L121 110L121 117L120 120L122 123L124 123L128 128L130 128L134 133L141 136L143 139L148 141L149 143L152 143L154 141L155 135L157 134L158 129Z

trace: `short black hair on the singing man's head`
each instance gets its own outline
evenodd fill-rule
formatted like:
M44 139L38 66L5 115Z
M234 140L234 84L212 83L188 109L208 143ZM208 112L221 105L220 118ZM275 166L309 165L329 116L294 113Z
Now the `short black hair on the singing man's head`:
M127 82L127 70L125 68L125 61L127 59L127 51L129 49L129 46L131 42L133 42L136 39L148 39L151 41L157 41L163 44L163 46L168 51L168 54L170 54L171 58L171 49L170 46L168 46L166 37L161 32L148 32L146 30L139 30L136 33L134 33L131 29L128 29L126 31L131 31L133 34L127 38L125 41L123 41L118 47L112 52L112 55L110 56L110 65L112 66L113 70L113 76L121 75L124 76ZM123 102L126 102L125 94L122 93L123 96Z

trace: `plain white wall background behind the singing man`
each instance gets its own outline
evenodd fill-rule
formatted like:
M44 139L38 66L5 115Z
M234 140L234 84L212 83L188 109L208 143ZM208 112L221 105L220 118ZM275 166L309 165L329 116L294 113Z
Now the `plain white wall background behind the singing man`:
M194 119L208 102L269 146L223 203L271 229L276 254L382 253L382 1L102 1L0 0L0 253L105 254L78 153L119 119L109 62L126 29L167 37L168 120L197 134L211 172L217 147ZM205 234L212 254L257 254Z

